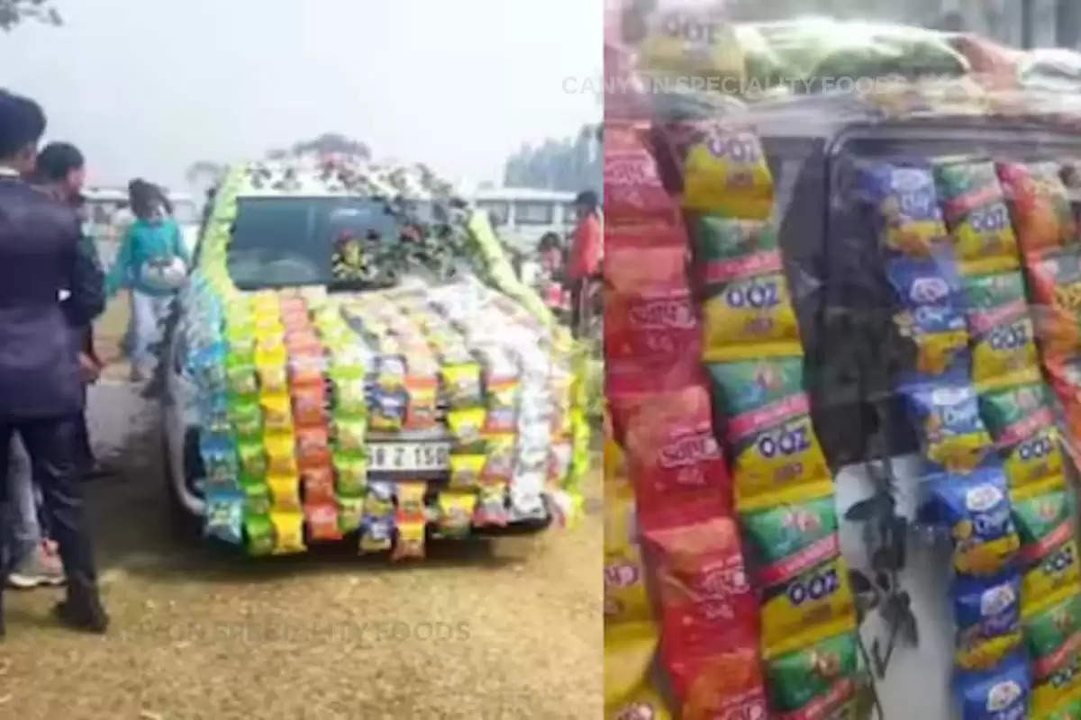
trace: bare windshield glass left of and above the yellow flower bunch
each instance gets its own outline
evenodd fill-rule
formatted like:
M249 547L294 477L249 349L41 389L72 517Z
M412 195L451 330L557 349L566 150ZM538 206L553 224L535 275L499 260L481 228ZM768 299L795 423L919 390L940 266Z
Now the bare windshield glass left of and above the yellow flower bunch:
M241 199L228 267L240 289L331 285L331 254L342 237L398 241L386 203L363 198Z

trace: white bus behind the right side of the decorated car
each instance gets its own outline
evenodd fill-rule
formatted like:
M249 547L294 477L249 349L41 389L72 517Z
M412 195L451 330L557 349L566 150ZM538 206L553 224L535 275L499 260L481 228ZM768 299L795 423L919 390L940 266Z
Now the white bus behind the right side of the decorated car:
M574 198L577 193L530 188L478 190L477 207L488 210L492 226L507 244L531 253L540 237L555 232L565 239L577 221Z

